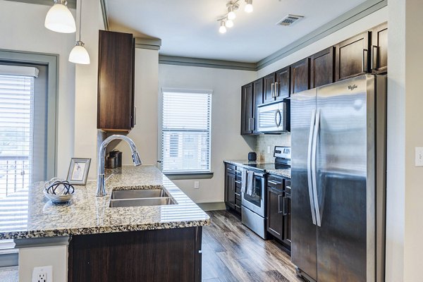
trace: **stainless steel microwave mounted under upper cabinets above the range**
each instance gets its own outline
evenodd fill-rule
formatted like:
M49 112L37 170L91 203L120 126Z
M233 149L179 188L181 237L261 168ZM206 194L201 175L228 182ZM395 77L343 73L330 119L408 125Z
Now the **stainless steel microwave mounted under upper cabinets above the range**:
M276 102L258 106L258 131L262 133L282 133L286 131L286 102Z

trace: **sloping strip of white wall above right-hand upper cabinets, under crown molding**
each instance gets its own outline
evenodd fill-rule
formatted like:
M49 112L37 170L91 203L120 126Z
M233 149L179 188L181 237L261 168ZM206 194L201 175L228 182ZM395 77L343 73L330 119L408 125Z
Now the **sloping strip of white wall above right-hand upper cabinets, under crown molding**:
M364 32L371 27L384 23L388 20L388 7L381 8L379 11L376 11L370 14L367 17L364 17L360 20L357 20L355 23L352 23L346 27L343 27L341 30L333 32L331 35L324 37L317 42L309 44L307 47L296 51L293 54L290 54L286 58L283 58L275 63L271 63L269 66L262 68L257 72L257 78L262 78L264 75L268 75L274 71L278 71L281 68L289 66L292 63L300 61L307 56L317 53L323 49L331 47L338 42L341 42L349 37Z

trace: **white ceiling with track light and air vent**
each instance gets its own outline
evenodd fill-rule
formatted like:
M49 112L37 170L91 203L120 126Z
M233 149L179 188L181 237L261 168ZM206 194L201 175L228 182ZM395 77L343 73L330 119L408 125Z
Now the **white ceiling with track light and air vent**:
M255 63L365 0L244 0L234 27L219 33L226 0L107 0L111 30L161 39L160 54ZM290 27L276 25L288 13L305 16Z

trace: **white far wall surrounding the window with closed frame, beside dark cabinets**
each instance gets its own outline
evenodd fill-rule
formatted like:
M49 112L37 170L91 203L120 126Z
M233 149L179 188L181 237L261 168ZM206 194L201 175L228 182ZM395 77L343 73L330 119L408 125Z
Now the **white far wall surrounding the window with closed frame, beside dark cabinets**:
M240 86L254 79L255 72L252 71L159 65L159 91L161 87L213 90L212 172L214 176L211 179L199 180L200 189L194 189L194 180L173 181L197 203L223 202L223 159L246 159L247 153L255 149L255 142L251 137L240 135Z

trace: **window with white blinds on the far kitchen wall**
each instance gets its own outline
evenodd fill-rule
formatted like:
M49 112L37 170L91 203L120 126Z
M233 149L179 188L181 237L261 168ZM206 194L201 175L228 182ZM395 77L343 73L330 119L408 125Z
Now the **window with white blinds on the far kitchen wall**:
M210 172L212 92L164 89L161 112L163 172Z

